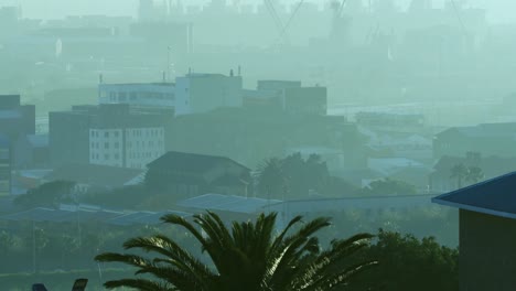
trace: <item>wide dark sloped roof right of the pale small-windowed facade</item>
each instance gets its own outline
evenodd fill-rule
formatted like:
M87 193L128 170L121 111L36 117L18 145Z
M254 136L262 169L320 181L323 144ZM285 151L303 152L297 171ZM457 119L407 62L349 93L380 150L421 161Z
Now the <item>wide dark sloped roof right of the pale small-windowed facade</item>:
M247 166L239 164L229 158L176 151L166 152L150 162L147 166L186 172L205 172L217 165L232 163L249 171Z

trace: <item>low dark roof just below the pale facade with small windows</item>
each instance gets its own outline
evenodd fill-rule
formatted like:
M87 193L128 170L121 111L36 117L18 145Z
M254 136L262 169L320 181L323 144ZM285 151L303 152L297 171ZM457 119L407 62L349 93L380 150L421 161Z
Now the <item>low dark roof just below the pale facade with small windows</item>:
M66 164L44 176L46 181L73 181L97 186L123 186L142 174L140 169L126 169L98 164Z

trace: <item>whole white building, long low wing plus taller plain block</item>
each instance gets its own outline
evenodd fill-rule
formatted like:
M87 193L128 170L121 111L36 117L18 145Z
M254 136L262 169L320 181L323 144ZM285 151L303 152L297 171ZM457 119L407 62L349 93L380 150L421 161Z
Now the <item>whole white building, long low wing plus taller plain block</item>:
M100 84L99 104L174 108L175 115L206 112L243 105L240 76L186 74L175 83Z

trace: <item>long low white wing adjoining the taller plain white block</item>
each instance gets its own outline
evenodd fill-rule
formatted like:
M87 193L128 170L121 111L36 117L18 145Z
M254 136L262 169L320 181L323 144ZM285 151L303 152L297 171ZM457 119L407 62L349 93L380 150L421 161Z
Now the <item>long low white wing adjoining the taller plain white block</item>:
M100 84L99 104L129 104L150 107L172 107L175 115L190 112L189 96L176 96L173 83Z

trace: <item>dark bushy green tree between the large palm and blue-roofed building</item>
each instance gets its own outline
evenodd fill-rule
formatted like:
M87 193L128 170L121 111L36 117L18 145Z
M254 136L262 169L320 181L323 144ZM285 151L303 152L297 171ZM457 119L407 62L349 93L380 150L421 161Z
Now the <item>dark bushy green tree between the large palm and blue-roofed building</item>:
M362 249L358 260L385 261L362 273L354 288L365 290L362 282L374 282L384 291L456 291L459 290L459 250L441 246L433 237L379 230L373 244ZM367 288L370 285L367 285Z

